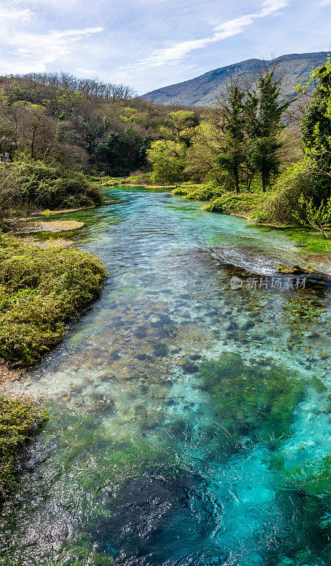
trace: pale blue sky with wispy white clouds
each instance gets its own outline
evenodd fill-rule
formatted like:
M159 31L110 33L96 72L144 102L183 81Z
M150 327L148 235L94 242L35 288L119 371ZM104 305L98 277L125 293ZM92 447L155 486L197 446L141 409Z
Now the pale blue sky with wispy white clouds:
M251 58L328 51L331 0L0 0L0 74L142 94Z

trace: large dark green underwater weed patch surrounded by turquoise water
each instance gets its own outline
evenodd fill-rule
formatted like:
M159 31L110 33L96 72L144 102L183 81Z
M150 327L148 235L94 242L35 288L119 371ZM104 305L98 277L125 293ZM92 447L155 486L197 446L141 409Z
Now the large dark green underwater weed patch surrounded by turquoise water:
M197 376L214 400L225 444L237 444L243 436L268 441L290 433L294 408L303 395L294 374L248 366L238 354L223 354L218 362L204 362Z

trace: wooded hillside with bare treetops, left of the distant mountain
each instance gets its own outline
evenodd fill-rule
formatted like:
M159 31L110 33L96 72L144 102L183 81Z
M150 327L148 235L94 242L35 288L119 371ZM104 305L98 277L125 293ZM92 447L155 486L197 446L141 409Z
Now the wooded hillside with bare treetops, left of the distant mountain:
M168 112L122 84L65 73L0 77L0 154L21 151L98 175L148 168Z

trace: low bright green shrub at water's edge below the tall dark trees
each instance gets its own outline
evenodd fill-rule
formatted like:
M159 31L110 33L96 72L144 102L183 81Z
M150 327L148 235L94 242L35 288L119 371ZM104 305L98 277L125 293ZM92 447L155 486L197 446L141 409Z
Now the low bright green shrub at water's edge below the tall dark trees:
M209 212L221 212L222 214L257 214L262 202L265 200L263 192L225 192L221 197L211 200L202 207L203 210Z

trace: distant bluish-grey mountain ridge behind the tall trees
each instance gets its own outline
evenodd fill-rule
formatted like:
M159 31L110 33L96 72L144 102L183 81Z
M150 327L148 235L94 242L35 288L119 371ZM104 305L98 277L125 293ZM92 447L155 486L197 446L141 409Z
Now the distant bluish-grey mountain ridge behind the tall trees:
M285 75L283 93L291 98L298 81L304 82L312 67L325 63L327 52L320 53L293 53L275 59L279 64L277 74ZM214 69L190 81L163 86L142 96L146 100L153 100L159 104L183 104L208 106L214 102L215 96L228 80L229 73L233 76L250 76L254 69L263 64L262 59L247 59L240 63Z

